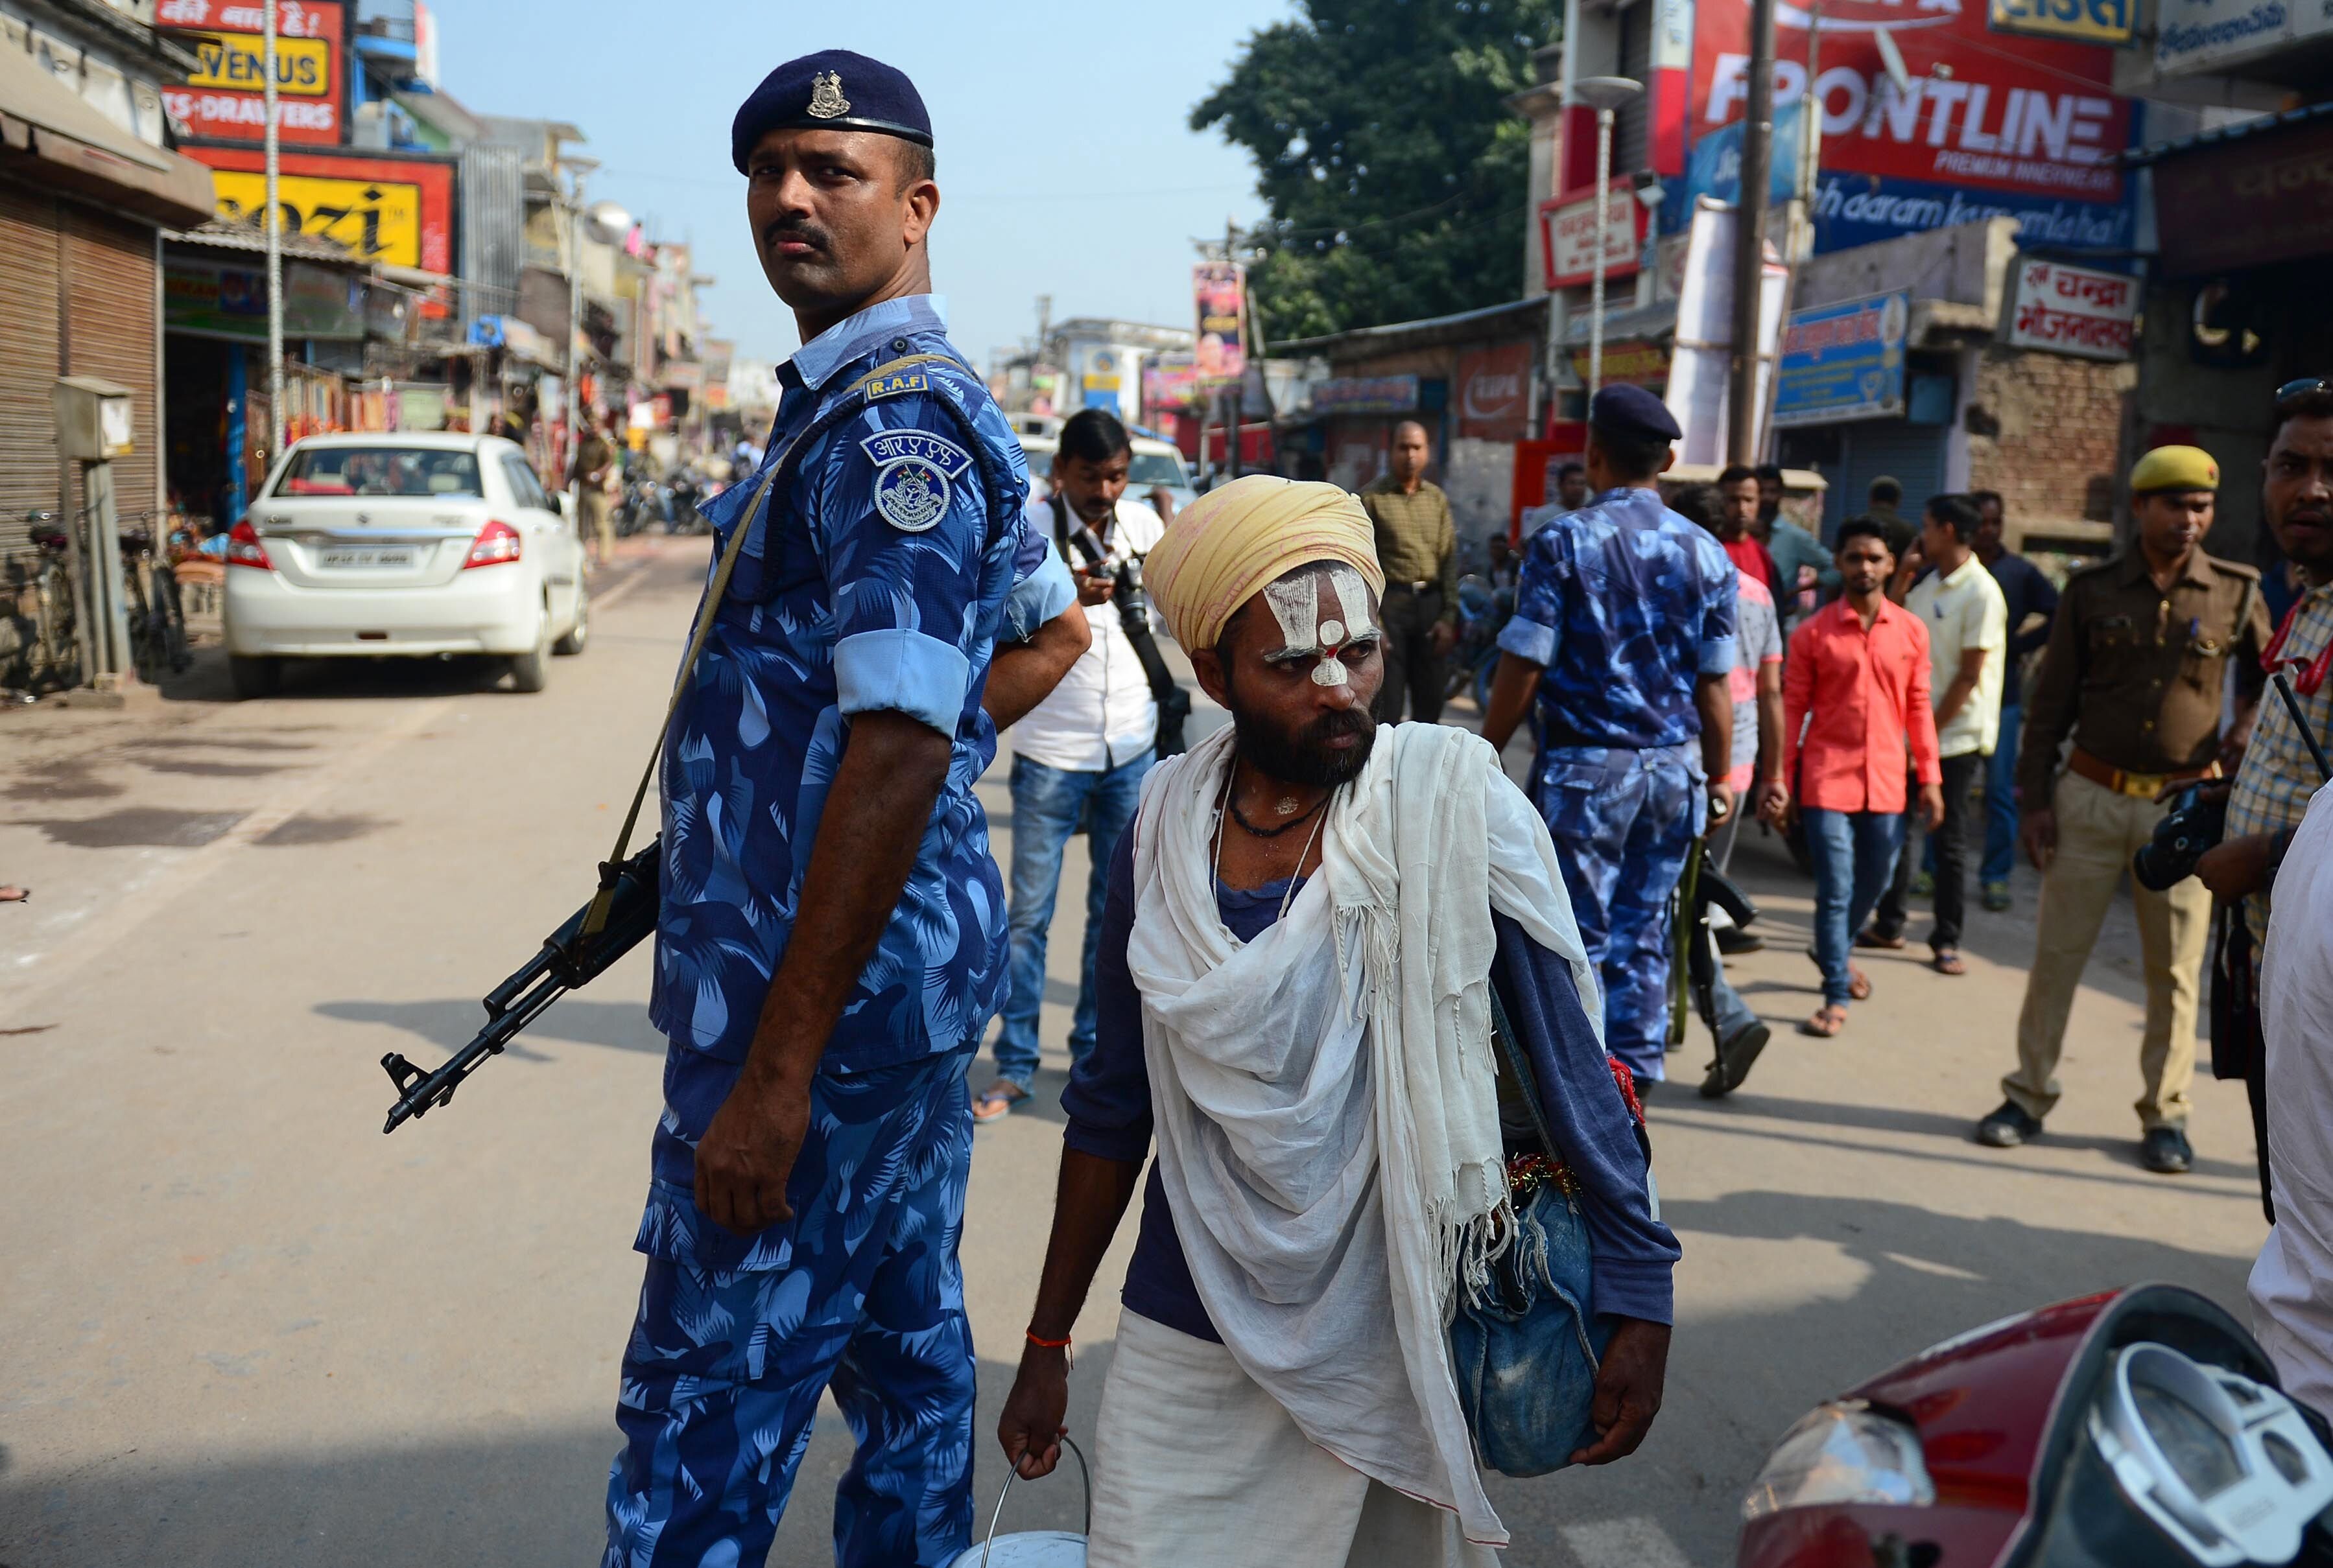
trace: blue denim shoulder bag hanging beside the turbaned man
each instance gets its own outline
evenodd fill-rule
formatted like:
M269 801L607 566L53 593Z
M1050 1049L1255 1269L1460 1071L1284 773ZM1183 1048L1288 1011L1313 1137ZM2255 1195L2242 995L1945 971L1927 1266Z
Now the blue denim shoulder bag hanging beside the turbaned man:
M1540 1155L1514 1155L1516 1234L1491 1265L1488 1283L1458 1290L1451 1318L1451 1370L1458 1407L1481 1463L1500 1475L1547 1475L1572 1463L1596 1442L1589 1405L1603 1360L1607 1325L1596 1321L1589 1227L1579 1216L1579 1185L1558 1162L1556 1139L1540 1111L1530 1059L1514 1038L1507 1008L1491 985L1491 1038L1500 1069L1514 1078L1540 1136Z

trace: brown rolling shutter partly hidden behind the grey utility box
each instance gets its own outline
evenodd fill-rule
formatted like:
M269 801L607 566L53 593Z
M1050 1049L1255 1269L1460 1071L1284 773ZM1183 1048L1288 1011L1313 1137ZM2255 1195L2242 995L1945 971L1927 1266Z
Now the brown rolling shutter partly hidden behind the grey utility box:
M91 208L65 208L65 355L75 376L103 376L131 390L138 450L114 460L114 506L124 527L161 506L161 338L154 322L154 229ZM77 469L79 464L75 464ZM82 497L72 476L72 504ZM154 532L154 520L142 527Z

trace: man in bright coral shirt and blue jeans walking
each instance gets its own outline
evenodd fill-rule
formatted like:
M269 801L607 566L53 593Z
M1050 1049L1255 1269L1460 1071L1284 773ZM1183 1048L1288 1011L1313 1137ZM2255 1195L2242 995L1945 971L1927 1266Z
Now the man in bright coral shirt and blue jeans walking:
M1927 628L1887 602L1894 553L1878 523L1843 523L1836 560L1845 593L1789 635L1782 772L1759 789L1759 814L1780 826L1792 807L1789 779L1796 779L1815 861L1815 964L1822 968L1822 1010L1799 1029L1824 1038L1845 1027L1848 1001L1871 994L1871 980L1848 961L1848 938L1871 915L1904 847L1906 747L1920 779L1920 817L1929 831L1943 821Z

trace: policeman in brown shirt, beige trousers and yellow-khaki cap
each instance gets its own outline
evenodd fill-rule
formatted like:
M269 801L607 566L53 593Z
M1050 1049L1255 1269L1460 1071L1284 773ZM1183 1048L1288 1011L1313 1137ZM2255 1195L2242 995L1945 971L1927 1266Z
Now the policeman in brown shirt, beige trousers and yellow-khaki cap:
M2130 471L2132 548L2076 572L2058 602L2041 679L2018 744L2025 852L2041 870L2034 964L2018 1013L2018 1069L1976 1141L2016 1148L2041 1136L2058 1104L2058 1055L2081 968L2130 856L2174 810L2174 786L2219 777L2251 733L2258 653L2268 642L2261 574L2202 553L2219 499L2219 462L2163 446ZM2221 733L2221 691L2235 660L2237 712ZM2065 772L2058 751L2072 740ZM2132 884L2146 966L2139 1041L2139 1162L2179 1174L2195 1078L2195 1006L2212 896L2193 877L2165 891Z

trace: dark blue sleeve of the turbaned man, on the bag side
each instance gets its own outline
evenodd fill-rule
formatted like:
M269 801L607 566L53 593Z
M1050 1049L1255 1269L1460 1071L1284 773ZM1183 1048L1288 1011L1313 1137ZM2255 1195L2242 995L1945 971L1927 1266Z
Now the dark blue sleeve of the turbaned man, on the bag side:
M1579 1181L1579 1211L1596 1258L1596 1314L1670 1323L1670 1274L1684 1248L1656 1211L1652 1146L1612 1083L1572 966L1505 915L1493 915L1493 924L1498 996L1540 1083L1540 1113L1556 1136L1554 1153Z

